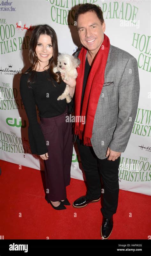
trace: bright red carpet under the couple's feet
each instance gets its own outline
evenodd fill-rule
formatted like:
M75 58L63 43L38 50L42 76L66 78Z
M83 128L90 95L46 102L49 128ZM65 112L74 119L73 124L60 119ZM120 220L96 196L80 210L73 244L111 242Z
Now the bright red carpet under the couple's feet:
M45 200L44 172L0 161L0 235L4 239L101 239L100 201L81 209L72 205L56 211ZM71 179L67 197L72 204L86 194L83 181ZM150 197L119 191L117 213L109 239L148 239ZM132 213L132 217L129 217Z

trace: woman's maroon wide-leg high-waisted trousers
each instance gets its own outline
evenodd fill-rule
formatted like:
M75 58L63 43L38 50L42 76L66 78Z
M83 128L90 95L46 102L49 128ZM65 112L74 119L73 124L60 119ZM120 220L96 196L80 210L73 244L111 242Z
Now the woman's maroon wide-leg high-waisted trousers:
M53 202L65 200L66 186L70 184L73 153L72 122L66 122L66 111L56 117L40 118L48 156L44 160L47 198Z

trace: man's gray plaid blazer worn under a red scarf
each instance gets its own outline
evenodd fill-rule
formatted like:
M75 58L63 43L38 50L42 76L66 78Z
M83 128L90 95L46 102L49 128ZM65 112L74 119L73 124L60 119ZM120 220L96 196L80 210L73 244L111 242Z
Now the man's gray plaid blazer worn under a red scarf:
M117 152L125 151L137 114L139 94L136 58L110 44L91 137L93 150L99 159L106 158L108 147Z

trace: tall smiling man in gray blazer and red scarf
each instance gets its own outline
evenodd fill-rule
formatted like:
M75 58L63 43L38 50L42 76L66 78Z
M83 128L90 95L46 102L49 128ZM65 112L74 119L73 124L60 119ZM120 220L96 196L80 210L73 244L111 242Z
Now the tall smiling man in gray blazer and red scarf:
M137 113L138 65L131 54L110 44L100 7L80 5L75 21L83 45L75 55L81 60L74 95L75 116L85 116L85 124L75 123L75 134L88 190L73 206L81 208L98 202L102 191L101 236L107 239L118 206L120 155L126 149Z

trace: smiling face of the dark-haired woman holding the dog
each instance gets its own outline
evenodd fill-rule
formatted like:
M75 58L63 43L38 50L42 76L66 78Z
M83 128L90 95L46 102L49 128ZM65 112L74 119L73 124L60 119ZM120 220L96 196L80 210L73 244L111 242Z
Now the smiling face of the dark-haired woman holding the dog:
M36 53L40 62L48 65L53 56L53 46L50 35L40 35L36 46Z

